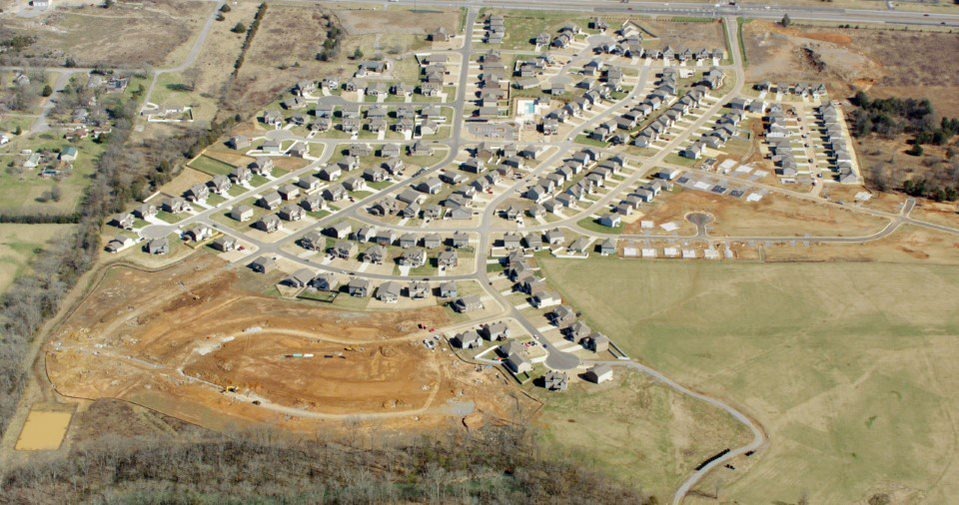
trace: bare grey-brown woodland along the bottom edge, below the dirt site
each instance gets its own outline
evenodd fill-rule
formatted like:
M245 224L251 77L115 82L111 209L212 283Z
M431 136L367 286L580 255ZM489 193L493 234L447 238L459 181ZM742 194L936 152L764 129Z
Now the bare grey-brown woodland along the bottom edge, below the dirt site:
M657 503L522 429L355 448L270 433L98 444L8 472L5 503Z

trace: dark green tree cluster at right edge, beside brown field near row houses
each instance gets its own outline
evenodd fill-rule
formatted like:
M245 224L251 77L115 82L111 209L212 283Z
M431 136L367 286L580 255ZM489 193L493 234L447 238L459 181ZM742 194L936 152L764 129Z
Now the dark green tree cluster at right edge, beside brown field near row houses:
M894 137L903 133L916 135L915 145L945 145L959 132L959 119L936 120L936 112L928 99L872 99L864 91L852 98L857 107L852 114L852 133L863 137L877 133Z

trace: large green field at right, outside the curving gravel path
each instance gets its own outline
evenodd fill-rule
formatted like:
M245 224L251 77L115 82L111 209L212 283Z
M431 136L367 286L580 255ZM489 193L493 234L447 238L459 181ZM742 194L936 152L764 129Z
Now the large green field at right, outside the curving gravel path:
M861 503L959 492L959 268L891 263L540 261L632 356L755 417L745 474L701 488L738 503ZM739 477L743 474L743 477Z

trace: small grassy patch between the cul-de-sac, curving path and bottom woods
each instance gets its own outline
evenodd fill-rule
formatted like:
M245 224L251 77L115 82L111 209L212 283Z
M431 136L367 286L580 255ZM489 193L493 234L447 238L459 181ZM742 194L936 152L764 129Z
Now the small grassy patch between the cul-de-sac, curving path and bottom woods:
M617 373L612 383L550 395L541 417L544 446L667 503L696 465L751 438L725 412L636 372Z

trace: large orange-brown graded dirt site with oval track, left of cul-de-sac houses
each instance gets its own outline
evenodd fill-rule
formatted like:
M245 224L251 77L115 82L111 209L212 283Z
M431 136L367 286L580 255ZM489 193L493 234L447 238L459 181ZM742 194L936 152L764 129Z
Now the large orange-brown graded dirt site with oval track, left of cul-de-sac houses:
M157 272L113 267L50 340L47 375L67 397L213 429L473 427L515 412L499 372L423 345L420 325L448 324L444 309L332 310L263 295L258 281L206 254Z

